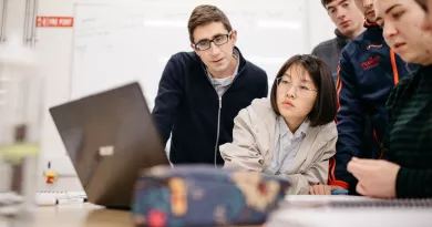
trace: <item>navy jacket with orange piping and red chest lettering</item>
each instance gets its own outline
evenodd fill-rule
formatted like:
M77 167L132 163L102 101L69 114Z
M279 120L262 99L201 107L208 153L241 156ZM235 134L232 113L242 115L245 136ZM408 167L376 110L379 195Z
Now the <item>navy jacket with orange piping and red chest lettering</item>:
M330 161L329 182L356 192L357 180L347 172L353 157L381 158L381 141L387 130L385 102L391 90L409 72L409 65L387 45L382 29L364 22L367 30L342 50L338 72L338 143ZM363 146L366 116L374 141ZM364 149L364 147L368 147Z

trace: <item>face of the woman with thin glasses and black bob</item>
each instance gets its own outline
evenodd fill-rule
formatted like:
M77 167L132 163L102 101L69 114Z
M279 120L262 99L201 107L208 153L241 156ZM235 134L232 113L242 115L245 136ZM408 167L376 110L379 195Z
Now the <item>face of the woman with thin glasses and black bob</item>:
M286 121L305 120L317 100L317 87L301 65L291 65L278 79L277 106Z

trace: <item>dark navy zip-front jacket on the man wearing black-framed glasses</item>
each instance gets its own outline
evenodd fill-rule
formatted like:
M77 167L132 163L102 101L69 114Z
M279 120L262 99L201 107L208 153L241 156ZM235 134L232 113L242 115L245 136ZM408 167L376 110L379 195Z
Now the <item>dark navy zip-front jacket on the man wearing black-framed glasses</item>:
M195 52L179 52L167 62L152 114L164 144L172 134L173 164L214 164L215 158L223 164L219 145L233 141L234 117L267 96L266 72L238 53L238 74L220 100Z

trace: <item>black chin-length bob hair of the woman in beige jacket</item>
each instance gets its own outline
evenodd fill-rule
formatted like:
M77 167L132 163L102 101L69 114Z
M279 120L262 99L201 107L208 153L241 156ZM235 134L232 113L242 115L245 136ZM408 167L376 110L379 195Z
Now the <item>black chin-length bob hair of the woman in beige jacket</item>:
M277 79L284 76L285 72L295 65L301 66L309 73L310 79L318 90L317 100L315 101L312 110L308 114L310 126L316 127L326 125L335 121L336 113L338 111L338 100L333 78L329 66L321 59L311 54L294 55L280 68L271 86L271 109L277 115L280 115L277 105Z

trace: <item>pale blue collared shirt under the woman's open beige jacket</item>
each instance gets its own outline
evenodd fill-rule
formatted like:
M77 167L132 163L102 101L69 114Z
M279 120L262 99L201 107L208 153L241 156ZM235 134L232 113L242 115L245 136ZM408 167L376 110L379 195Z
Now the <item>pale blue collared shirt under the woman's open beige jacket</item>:
M310 121L305 120L296 133L291 133L282 116L278 116L279 136L271 154L270 165L264 169L264 173L279 175L289 171L297 156L301 143L305 140L306 132L309 128Z

